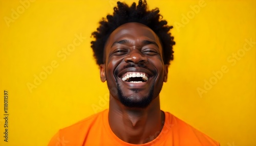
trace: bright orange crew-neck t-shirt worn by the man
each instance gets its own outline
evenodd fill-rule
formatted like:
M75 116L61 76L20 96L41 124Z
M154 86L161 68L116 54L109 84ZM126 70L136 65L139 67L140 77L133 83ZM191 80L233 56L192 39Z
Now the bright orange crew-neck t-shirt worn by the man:
M144 144L130 144L119 139L111 130L109 110L104 110L78 123L60 129L49 142L56 145L219 145L219 143L174 115L165 112L162 131L153 141Z

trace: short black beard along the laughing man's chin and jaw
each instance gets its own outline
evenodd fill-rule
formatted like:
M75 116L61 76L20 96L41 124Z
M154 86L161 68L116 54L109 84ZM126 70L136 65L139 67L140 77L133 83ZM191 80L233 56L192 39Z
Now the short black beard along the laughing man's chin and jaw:
M139 89L134 89L134 94L125 96L117 83L117 95L119 98L119 101L126 107L130 108L146 108L148 105L151 104L153 101L153 95L154 95L154 85L151 87L150 92L148 95L145 96L138 96Z

